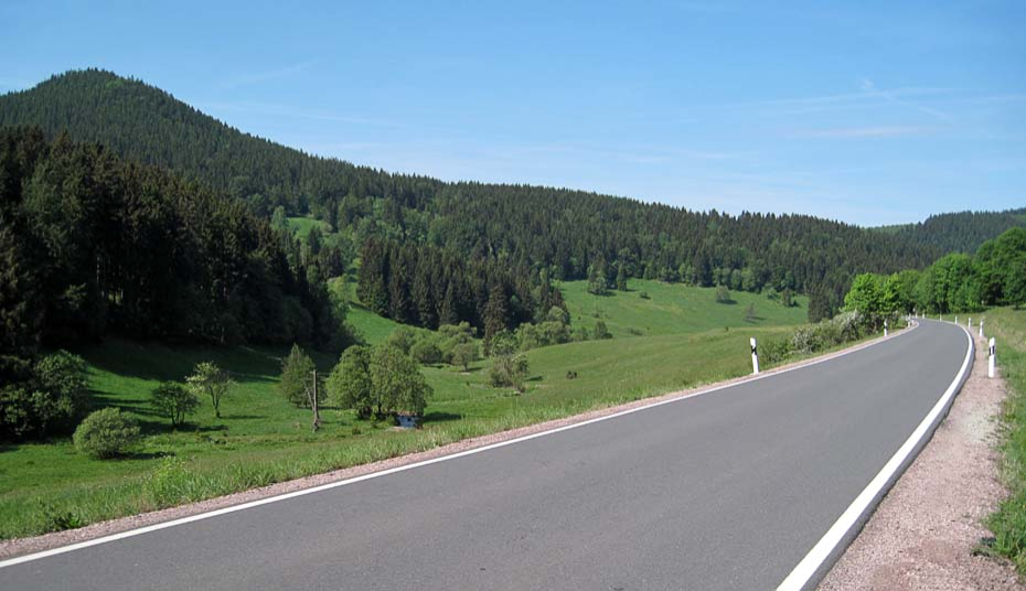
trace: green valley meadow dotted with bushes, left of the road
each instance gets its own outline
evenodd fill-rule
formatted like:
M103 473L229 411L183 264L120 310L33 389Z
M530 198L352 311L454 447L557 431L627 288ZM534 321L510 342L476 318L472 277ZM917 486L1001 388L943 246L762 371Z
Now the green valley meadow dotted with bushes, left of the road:
M707 308L714 308L702 312L702 302L713 302L712 290L655 282L644 282L643 289L651 300L628 292L601 298L600 303L608 307L606 322L613 334L629 334L634 322L644 322L654 336L631 337L630 346L618 337L532 351L524 395L488 386L488 361L467 373L448 366L425 367L435 396L424 429L417 431L357 421L349 411L328 408L322 429L312 433L309 410L291 407L275 389L280 358L287 353L284 348L169 347L108 340L78 351L89 364L97 404L120 407L140 419L143 442L130 456L116 461L87 459L68 440L3 448L0 537L76 527L209 498L744 375L750 369L748 337L787 330L748 325L725 331L725 325L745 323L744 311L738 312L740 319L729 312L742 303L709 303ZM578 293L574 283L566 291L578 308L594 299ZM674 301L692 308L676 312ZM761 305L767 318L760 323L798 319L788 315L793 309L769 301ZM773 305L780 310L770 312ZM629 320L618 322L613 313ZM703 325L691 316L702 313L715 318L709 321L715 330L696 332ZM398 326L359 305L352 308L350 321L370 342L380 342ZM664 334L672 330L682 334ZM161 380L181 380L193 365L207 359L229 369L238 387L223 402L222 419L215 419L209 400L203 400L191 425L173 431L149 407L149 393ZM322 372L334 363L323 355L314 355L314 361ZM578 377L567 379L569 370Z

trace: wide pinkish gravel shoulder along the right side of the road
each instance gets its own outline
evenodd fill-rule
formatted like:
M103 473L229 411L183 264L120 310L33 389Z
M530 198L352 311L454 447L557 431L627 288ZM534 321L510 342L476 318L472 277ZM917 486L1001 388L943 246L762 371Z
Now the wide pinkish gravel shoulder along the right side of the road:
M1006 386L986 377L974 336L972 375L932 440L820 584L834 590L1024 590L1005 560L974 556L984 518L1007 494L995 450Z

